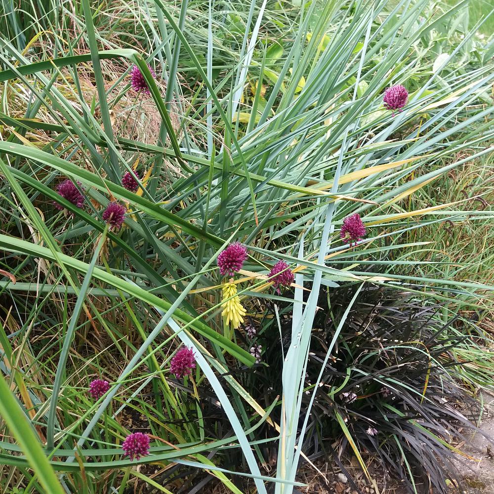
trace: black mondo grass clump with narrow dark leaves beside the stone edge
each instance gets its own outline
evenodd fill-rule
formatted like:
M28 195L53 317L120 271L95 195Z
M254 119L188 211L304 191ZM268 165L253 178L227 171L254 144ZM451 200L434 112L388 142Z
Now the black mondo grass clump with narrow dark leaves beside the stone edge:
M310 413L304 452L311 460L331 458L351 481L345 466L360 455L363 465L377 460L384 482L394 477L410 493L418 484L419 492L447 493L453 444L466 441L462 432L475 428L470 419L476 406L459 384L454 352L467 336L456 329L456 317L441 320L441 306L424 304L411 292L374 285L362 289L309 411L329 342L357 287L321 290L300 411L300 426ZM280 313L281 341L271 324L256 336L266 347L267 367L257 368L251 392L262 389L259 399L266 404L281 393L276 387L283 368L280 344L287 351L291 339L289 314L283 308Z

